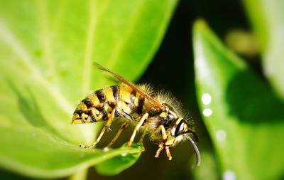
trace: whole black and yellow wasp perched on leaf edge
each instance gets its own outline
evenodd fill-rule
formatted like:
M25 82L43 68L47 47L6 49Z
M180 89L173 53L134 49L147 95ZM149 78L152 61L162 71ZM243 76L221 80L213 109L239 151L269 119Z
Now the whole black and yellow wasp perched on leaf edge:
M170 148L175 147L179 142L189 140L195 149L197 165L200 164L200 152L195 144L197 135L192 120L185 118L180 103L174 97L168 92L154 92L149 85L135 85L98 63L94 65L110 73L121 84L93 91L77 105L71 124L106 122L93 144L80 145L80 147L88 149L94 147L104 132L110 129L111 123L114 120L121 120L119 131L107 147L111 147L121 132L131 125L134 129L127 147L131 147L136 134L141 131L143 133L140 142L143 142L144 136L148 134L150 139L158 144L155 157L159 157L164 149L168 159L171 160Z

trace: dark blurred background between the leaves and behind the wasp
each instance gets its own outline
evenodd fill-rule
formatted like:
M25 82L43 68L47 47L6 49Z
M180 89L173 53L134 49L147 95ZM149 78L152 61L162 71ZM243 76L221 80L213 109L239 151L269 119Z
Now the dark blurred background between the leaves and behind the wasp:
M210 179L237 179L234 175L224 177L220 173L221 163L215 155L214 145L200 114L195 87L192 26L197 18L207 21L208 26L214 30L222 42L239 57L244 58L249 68L266 82L261 61L261 45L256 41L256 34L253 33L244 4L238 0L178 1L166 28L165 36L153 55L153 60L150 60L148 68L136 81L136 83L151 83L157 90L170 91L182 102L195 121L200 151L204 152L204 156L209 154L205 160L202 160L207 161L209 169L198 171L198 167L195 166L195 153L190 143L183 143L171 149L172 161L168 161L164 152L158 159L155 159L154 154L157 147L146 137L144 140L146 152L141 154L133 166L115 176L103 176L98 174L94 167L90 167L87 179L202 179L203 175ZM284 112L284 107L280 108L281 110ZM117 125L114 125L113 131L102 139L100 146L107 144L117 128ZM121 144L129 139L130 134L131 129L127 129L114 147L121 147ZM265 165L268 164L263 163L263 166ZM33 179L4 170L0 173L11 179Z

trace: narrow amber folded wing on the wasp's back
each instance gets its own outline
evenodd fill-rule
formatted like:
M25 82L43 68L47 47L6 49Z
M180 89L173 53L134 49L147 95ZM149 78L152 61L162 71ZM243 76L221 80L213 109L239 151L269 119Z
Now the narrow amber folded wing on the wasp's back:
M162 109L162 104L160 102L158 102L158 100L155 100L155 98L151 97L151 95L149 95L147 92L145 92L144 90L141 90L141 88L138 88L137 85L131 83L129 80L126 80L121 75L118 75L118 74L112 72L108 68L104 68L99 63L94 62L94 65L96 66L96 68L98 68L100 70L104 70L107 73L110 73L111 75L114 76L114 78L119 80L121 83L124 83L124 84L128 85L130 88L132 88L133 90L136 90L139 94L141 94L143 97L145 97L147 100L149 100L149 102L151 104L153 104L155 107L159 107L160 109Z

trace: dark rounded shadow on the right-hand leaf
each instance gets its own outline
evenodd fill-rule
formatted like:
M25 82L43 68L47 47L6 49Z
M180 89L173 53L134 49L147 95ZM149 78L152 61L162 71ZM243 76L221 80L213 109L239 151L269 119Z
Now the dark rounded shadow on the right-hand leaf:
M284 120L284 103L270 86L248 70L234 76L226 90L229 113L241 122L272 123Z

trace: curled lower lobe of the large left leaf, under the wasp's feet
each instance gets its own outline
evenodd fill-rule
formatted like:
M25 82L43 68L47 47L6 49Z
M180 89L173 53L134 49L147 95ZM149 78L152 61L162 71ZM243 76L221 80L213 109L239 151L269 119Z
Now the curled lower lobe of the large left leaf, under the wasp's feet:
M21 137L15 138L13 134ZM121 157L121 154L132 157L132 154L141 153L141 147L121 147L109 151L83 149L37 128L2 127L0 137L1 167L38 178L67 176L78 169Z

